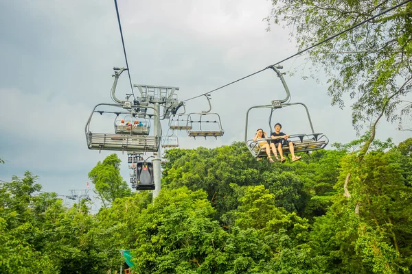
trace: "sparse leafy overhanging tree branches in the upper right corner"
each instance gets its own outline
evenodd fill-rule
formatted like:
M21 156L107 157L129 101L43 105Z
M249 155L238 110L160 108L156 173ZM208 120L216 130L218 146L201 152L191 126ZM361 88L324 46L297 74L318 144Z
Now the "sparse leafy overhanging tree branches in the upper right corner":
M272 0L268 22L291 27L299 49L384 12L401 0ZM345 105L343 95L357 100L352 104L352 123L361 130L371 121L371 134L361 154L375 138L376 124L382 116L398 121L411 114L400 105L412 90L412 2L401 5L324 42L309 51L308 60L324 69L330 84L332 104ZM400 109L402 108L402 109Z

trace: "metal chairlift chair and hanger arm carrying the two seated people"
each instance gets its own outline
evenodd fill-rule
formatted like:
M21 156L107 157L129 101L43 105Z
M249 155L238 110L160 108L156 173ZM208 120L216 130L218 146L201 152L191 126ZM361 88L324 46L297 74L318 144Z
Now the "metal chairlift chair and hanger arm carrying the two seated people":
M309 153L309 151L324 149L326 147L326 145L328 145L329 139L328 139L328 137L326 137L322 133L315 133L314 132L313 125L312 125L312 120L310 119L309 110L306 107L306 105L304 103L286 103L288 101L288 99L290 98L290 91L289 91L288 86L286 85L286 82L284 80L283 73L281 73L279 71L279 69L282 69L282 66L277 66L277 67L271 66L271 69L273 69L273 71L275 71L275 73L277 73L277 76L281 79L282 84L283 84L283 86L286 90L286 98L282 99L282 100L274 100L274 101L272 101L271 105L256 105L256 106L253 106L253 107L249 108L249 110L247 110L246 126L245 126L245 134L244 134L244 142L246 143L247 148L249 149L249 151L251 152L251 154L255 158L267 157L266 150L262 149L260 147L260 145L258 144L258 142L255 142L253 140L247 140L249 112L252 109L255 109L255 108L270 108L271 109L271 115L270 115L270 119L269 119L269 127L272 130L273 127L271 125L271 118L272 118L272 114L273 114L274 110L281 109L281 108L284 108L284 107L288 107L290 105L303 105L305 110L306 110L306 114L308 116L308 121L310 123L310 128L312 129L312 133L310 133L310 134L293 134L293 135L289 136L288 140L293 142L293 145L295 147L295 153L297 153L297 152ZM268 136L268 137L270 137L270 136ZM272 139L267 138L266 140L269 142ZM282 147L282 151L283 151L284 155L287 155L288 153L290 153L288 147ZM271 153L273 153L273 152L271 151Z

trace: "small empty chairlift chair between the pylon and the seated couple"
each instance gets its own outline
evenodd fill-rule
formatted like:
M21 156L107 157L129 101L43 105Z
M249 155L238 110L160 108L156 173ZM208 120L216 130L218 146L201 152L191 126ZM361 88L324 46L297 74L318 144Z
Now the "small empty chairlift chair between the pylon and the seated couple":
M191 113L187 117L187 125L192 124L191 129L187 129L189 137L215 137L223 136L220 116L217 113Z

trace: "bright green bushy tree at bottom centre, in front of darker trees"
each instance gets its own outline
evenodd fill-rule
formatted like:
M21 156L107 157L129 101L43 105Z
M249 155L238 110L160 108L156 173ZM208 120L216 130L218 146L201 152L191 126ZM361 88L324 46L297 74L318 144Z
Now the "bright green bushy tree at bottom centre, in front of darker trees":
M138 273L216 273L226 234L211 219L214 209L203 190L162 190L141 211L133 229ZM218 260L225 263L223 258Z

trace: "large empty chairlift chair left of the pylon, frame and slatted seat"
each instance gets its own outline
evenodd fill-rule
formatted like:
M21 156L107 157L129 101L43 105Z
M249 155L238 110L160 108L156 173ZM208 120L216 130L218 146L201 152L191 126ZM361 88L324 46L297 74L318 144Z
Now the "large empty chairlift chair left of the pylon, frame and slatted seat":
M114 104L99 104L99 105L110 105L117 106ZM99 106L96 105L93 112L87 121L84 132L86 134L87 147L89 149L98 149L98 150L110 150L110 151L136 151L136 152L157 152L159 151L160 145L160 129L154 133L154 136L149 135L133 135L131 132L128 134L113 134L113 133L96 133L91 132L90 123L93 114L98 112L99 114L124 114L130 112L105 112L105 111L96 111L95 109ZM155 119L159 119L159 116L154 115Z

